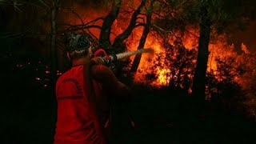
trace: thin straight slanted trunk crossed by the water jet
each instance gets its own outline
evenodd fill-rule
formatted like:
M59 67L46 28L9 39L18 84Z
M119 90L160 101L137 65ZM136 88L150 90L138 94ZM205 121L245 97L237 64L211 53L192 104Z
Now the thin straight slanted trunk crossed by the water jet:
M150 25L151 25L151 18L152 18L152 12L153 12L153 1L150 3L150 9L148 10L148 14L146 16L146 25L144 27L142 38L139 41L138 50L143 49L146 42L146 37L150 33ZM130 74L133 75L138 70L139 62L141 61L142 54L136 54L134 58L134 62L130 68Z

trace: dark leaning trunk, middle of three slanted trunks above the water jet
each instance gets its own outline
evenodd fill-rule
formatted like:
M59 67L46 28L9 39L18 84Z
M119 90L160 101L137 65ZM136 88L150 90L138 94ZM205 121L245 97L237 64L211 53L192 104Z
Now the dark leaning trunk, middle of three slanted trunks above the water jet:
M132 31L134 30L134 27L136 25L136 20L137 20L138 14L140 14L143 6L145 6L145 0L142 0L141 4L138 6L137 10L135 10L134 13L132 14L132 17L130 19L130 24L126 28L126 30L122 34L119 34L118 37L114 39L114 43L113 43L114 48L122 45L122 42L130 36L130 34L132 33Z

